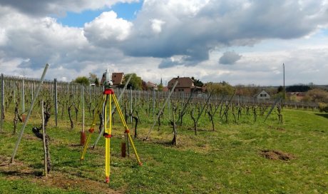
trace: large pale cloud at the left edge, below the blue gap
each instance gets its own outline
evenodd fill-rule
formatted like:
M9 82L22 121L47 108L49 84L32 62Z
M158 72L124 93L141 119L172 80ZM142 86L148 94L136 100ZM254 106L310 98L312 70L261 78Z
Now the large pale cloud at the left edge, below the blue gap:
M0 6L2 38L0 49L5 58L29 59L22 67L40 68L45 63L65 63L69 55L86 47L83 31L62 26L50 17L30 18ZM74 59L73 59L74 58ZM73 56L70 60L76 60ZM9 59L10 60L10 59Z

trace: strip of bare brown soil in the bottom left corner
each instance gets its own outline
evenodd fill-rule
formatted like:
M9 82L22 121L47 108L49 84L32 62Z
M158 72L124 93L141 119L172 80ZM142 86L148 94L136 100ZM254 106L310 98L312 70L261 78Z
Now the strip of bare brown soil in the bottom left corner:
M41 170L25 165L15 160L14 164L9 164L10 157L0 155L0 173L6 175L8 180L28 180L37 185L50 188L61 188L63 190L81 190L86 193L123 193L123 191L113 190L108 184L96 180L80 178L76 175L52 171L47 177L42 175Z

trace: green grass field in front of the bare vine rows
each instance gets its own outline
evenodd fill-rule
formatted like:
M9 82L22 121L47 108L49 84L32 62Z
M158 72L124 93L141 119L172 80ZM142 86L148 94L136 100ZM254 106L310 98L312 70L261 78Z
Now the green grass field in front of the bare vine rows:
M170 145L170 126L155 127L143 141L150 128L143 123L134 140L142 166L132 152L121 158L123 128L116 123L110 184L104 183L103 138L80 161L80 130L68 123L49 123L53 169L47 178L42 142L31 132L38 119L31 119L16 163L8 165L18 137L8 119L0 133L0 193L328 193L328 114L285 109L283 116L283 124L276 116L266 123L217 119L215 131L203 119L198 136L191 125L178 127L178 146Z

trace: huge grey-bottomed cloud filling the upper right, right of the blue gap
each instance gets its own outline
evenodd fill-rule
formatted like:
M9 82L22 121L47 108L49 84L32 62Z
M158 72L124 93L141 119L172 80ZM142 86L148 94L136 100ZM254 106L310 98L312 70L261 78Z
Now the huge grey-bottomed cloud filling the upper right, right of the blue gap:
M118 47L128 56L183 55L188 66L191 60L194 64L208 60L213 49L307 36L328 24L324 20L328 5L323 2L149 0L133 21L130 36Z

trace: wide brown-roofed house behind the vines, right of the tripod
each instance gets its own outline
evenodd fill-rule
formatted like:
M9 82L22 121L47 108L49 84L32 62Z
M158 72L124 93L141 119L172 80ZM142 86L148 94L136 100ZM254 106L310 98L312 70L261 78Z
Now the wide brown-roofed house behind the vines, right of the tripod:
M168 82L168 89L171 90L174 86L175 81L178 80L178 85L175 86L174 91L180 91L180 92L184 92L184 93L190 93L190 92L194 92L194 91L201 91L202 88L195 86L194 85L194 81L189 78L189 77L182 77L180 78L178 76L178 78L172 78L169 82Z

